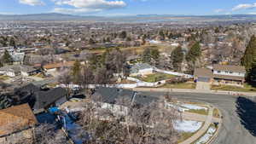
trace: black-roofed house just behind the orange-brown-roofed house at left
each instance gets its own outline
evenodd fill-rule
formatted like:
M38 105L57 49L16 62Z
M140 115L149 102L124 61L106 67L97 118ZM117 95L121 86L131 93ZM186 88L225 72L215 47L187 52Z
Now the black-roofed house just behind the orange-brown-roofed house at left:
M27 84L15 89L15 101L29 103L34 112L42 112L52 106L60 106L67 101L67 90L61 87L55 89L41 89L34 84Z

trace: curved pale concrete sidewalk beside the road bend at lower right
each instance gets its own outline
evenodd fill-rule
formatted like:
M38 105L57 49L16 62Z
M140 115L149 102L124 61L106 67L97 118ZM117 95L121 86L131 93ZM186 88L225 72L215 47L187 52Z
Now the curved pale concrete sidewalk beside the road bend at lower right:
M191 137L189 137L189 139L179 143L179 144L191 144L192 142L198 140L201 135L204 135L205 132L208 130L210 124L212 123L212 114L213 114L213 108L210 107L209 109L209 113L207 116L207 120L205 121L205 124L202 126L202 128L200 130L198 130L195 135L192 135Z

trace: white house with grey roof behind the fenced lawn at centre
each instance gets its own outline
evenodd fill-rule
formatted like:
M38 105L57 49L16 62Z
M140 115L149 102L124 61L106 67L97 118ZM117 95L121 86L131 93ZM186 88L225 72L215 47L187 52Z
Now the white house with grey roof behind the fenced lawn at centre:
M131 66L130 75L139 76L139 75L148 75L154 72L154 67L148 65L147 63L137 63Z

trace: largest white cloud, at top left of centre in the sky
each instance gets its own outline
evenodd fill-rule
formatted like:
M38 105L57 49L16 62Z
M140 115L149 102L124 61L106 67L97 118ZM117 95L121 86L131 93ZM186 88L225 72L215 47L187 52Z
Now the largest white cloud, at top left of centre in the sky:
M56 5L69 5L72 9L55 8L59 13L90 13L99 12L108 9L124 8L124 1L107 1L107 0L52 0Z

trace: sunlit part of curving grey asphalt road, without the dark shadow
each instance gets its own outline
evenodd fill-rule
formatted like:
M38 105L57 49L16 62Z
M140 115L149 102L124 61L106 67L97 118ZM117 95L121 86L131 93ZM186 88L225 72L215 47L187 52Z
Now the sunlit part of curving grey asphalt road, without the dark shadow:
M142 92L143 95L160 96L162 92ZM244 128L236 113L236 97L232 95L171 93L178 99L204 101L218 107L224 116L224 124L212 144L256 144L256 137ZM253 125L252 125L253 126Z

